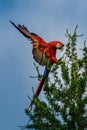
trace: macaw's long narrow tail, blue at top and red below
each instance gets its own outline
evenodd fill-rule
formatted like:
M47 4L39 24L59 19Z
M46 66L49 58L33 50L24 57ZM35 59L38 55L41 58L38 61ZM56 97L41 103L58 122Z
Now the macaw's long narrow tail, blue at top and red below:
M40 83L39 83L39 85L38 85L38 87L37 87L37 89L36 89L36 92L35 92L35 94L34 94L34 97L35 97L35 96L37 96L37 97L39 96L39 94L40 94L40 92L41 92L41 89L42 89L42 87L43 87L44 81L45 81L45 79L48 77L48 74L49 74L49 70L48 70L47 68L45 68L43 77L42 77L42 79L41 79L41 81L40 81ZM32 110L32 105L33 105L33 103L34 103L34 97L33 97L33 100L31 101L31 103L30 103L30 105L29 105L29 109L30 109L30 110Z

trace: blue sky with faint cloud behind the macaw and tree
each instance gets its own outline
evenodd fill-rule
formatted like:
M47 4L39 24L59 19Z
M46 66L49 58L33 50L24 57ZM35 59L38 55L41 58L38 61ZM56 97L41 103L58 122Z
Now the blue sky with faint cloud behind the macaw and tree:
M33 66L32 45L10 23L24 24L46 41L66 44L66 29L78 24L78 48L87 39L87 0L0 0L0 130L19 130L28 121L24 109L27 96L38 85ZM41 73L43 67L40 67ZM41 95L40 95L41 97Z

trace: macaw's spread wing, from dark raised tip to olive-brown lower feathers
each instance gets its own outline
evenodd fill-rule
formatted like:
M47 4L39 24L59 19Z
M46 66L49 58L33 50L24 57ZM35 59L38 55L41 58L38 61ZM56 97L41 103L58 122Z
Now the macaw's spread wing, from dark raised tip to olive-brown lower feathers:
M49 60L46 56L46 50L48 49L48 44L37 34L31 33L24 25L15 25L12 21L10 23L21 32L26 38L30 39L33 44L33 57L40 64L45 65Z

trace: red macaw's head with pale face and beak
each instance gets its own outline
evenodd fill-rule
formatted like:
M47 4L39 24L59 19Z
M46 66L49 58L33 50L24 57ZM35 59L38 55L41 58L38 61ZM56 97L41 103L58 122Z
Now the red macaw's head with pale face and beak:
M64 44L60 41L52 41L49 44L54 49L59 49L61 51L64 49Z

